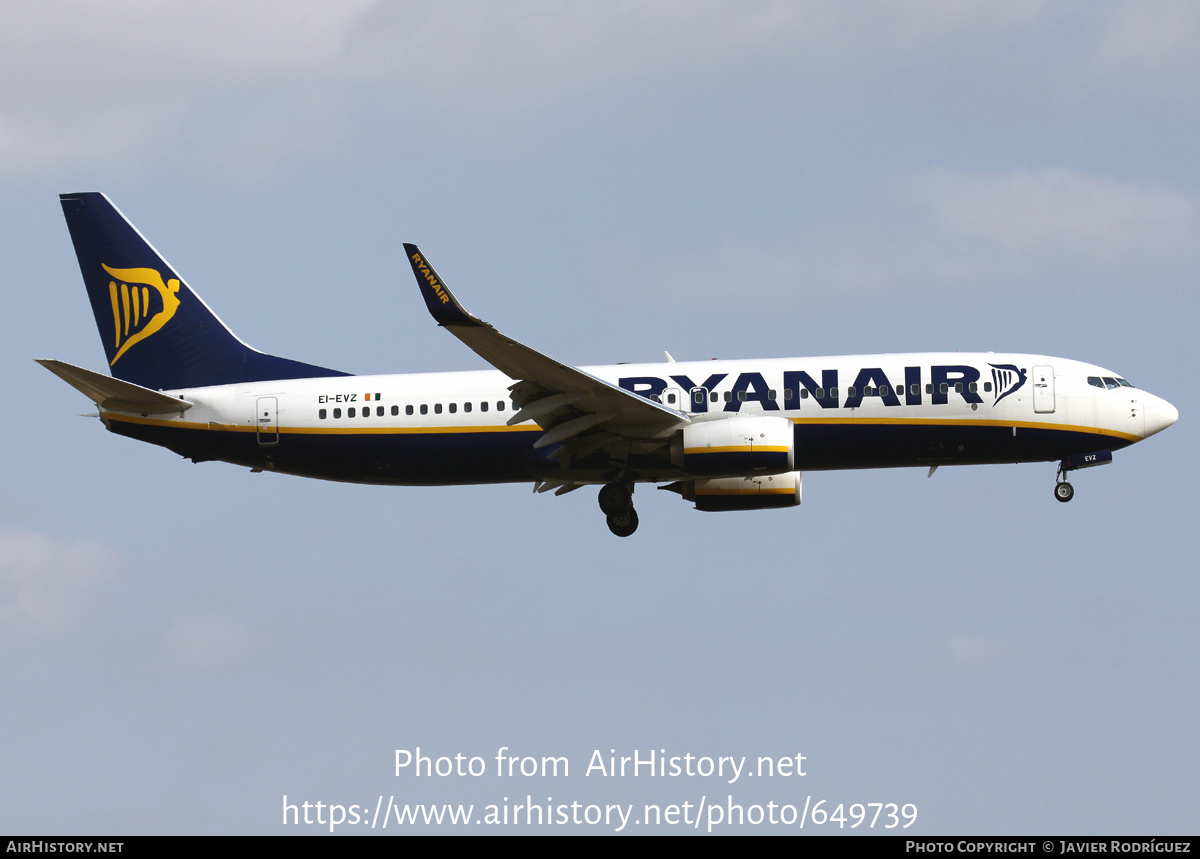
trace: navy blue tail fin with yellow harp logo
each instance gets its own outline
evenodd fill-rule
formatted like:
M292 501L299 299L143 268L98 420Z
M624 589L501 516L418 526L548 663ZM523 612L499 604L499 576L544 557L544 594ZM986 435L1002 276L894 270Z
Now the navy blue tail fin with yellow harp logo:
M59 200L118 379L178 390L348 376L242 343L104 194L60 194Z

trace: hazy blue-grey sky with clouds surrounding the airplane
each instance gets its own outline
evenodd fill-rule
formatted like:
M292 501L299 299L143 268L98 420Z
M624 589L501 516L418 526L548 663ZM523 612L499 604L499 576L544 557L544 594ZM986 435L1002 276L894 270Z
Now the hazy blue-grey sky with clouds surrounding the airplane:
M16 2L0 48L0 828L516 791L1194 831L1194 4ZM68 191L247 342L355 373L482 366L415 241L572 364L1031 352L1182 416L1069 505L1049 463L820 473L788 511L638 492L629 540L590 492L193 465L34 364L102 368ZM416 746L572 771L396 777ZM601 781L596 749L809 775Z

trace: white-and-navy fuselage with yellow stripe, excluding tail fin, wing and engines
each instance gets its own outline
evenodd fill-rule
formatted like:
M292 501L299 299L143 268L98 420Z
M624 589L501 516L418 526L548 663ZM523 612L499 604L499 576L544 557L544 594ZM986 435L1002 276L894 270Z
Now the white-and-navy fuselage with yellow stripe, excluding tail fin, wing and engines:
M788 419L802 470L1046 461L1116 450L1177 418L1170 403L1110 371L1042 355L842 355L582 370L691 421ZM534 451L542 430L533 421L508 426L516 413L511 385L498 371L288 379L167 391L193 403L179 415L104 416L119 432L194 458L311 476L469 483L554 475L602 482L587 467L564 475L550 450ZM215 437L221 443L202 440ZM647 480L686 476L668 462L648 461L641 473Z

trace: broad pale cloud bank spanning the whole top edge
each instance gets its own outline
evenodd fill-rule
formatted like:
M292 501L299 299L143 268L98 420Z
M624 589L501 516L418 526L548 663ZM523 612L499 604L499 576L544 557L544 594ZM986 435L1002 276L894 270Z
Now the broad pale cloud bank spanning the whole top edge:
M409 142L480 124L518 133L532 115L598 92L746 74L842 98L966 103L988 91L1040 106L1048 94L1070 103L1127 92L1190 103L1200 7L13 2L0 10L0 170L209 160L253 175L382 126Z

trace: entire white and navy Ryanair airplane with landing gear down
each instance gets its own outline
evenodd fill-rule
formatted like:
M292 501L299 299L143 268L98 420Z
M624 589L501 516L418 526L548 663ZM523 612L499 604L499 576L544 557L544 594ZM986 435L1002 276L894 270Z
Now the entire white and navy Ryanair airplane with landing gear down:
M599 487L637 530L640 483L697 510L800 504L803 473L1108 464L1175 424L1165 400L1045 355L919 353L574 367L468 313L415 245L430 314L493 370L353 376L252 349L101 193L61 194L110 376L40 364L114 433L192 462L400 486Z

